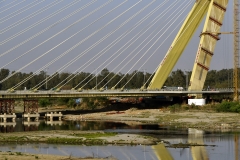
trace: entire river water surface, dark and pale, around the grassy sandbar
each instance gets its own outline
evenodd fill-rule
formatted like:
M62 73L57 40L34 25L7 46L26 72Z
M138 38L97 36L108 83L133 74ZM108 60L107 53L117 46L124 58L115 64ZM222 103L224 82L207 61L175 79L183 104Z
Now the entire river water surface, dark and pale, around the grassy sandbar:
M188 148L165 147L161 143L145 145L56 145L56 144L2 144L0 151L34 154L55 154L75 157L115 157L118 160L239 160L240 132L201 132L199 130L172 129L159 124L130 125L122 122L59 121L54 124L40 121L29 124L17 119L16 124L1 124L1 132L31 132L33 130L103 130L106 132L138 133L157 137L171 144L197 143L202 146ZM205 146L204 146L205 145Z

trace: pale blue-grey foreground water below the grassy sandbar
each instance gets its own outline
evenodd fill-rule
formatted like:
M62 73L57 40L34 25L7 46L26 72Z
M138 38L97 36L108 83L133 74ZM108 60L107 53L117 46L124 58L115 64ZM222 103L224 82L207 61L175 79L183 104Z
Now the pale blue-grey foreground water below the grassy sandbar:
M216 134L195 138L194 141L203 142L211 146L196 146L190 148L166 148L160 149L160 145L155 146L84 146L84 145L54 145L54 144L3 144L1 151L23 152L33 154L54 154L75 157L115 157L118 160L158 160L161 156L170 155L176 160L238 160L240 158L240 148L236 149L236 144L240 144L239 135ZM171 143L189 142L189 138L166 138ZM216 146L212 146L216 145ZM237 157L238 156L238 157Z

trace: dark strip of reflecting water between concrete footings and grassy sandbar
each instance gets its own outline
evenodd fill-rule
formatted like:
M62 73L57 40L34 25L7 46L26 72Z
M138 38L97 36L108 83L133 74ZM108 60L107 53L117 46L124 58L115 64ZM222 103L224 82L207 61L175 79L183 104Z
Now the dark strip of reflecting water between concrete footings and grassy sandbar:
M6 129L11 128L10 129ZM16 122L0 124L2 133L24 132L24 131L44 131L44 130L105 130L109 132L149 132L149 130L165 130L166 127L158 124L128 124L124 122L97 122L97 121L23 121L17 118ZM4 129L5 128L5 129Z

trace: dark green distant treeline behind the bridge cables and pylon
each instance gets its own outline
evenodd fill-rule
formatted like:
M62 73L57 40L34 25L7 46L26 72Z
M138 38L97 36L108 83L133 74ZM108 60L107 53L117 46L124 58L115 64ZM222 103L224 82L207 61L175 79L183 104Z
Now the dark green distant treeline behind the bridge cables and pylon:
M145 82L147 82L146 86L148 86L152 78L151 73L136 72L137 71L134 71L130 74L125 75L123 73L115 74L114 72L110 72L108 69L103 69L95 77L95 74L86 72L75 74L61 72L54 73L53 75L47 75L46 72L41 71L39 74L35 74L31 79L22 83L22 85L16 88L16 90L34 88L36 86L39 86L39 84L41 84L39 86L39 90L49 90L52 88L58 88L59 86L62 86L61 89L72 89L76 86L77 87L75 89L78 89L80 87L83 87L83 89L92 89L96 87L96 85L97 89L100 89L105 84L107 84L104 86L105 89L110 89L113 86L115 86L115 88L122 88L124 86L126 89L136 89L142 87ZM12 73L14 72L10 72L9 69L1 69L0 80L8 77ZM232 69L222 69L219 71L211 70L208 72L204 87L207 88L209 86L210 88L231 88L233 84L232 73ZM6 81L0 83L0 90L10 89L32 75L32 72L18 72ZM190 81L190 77L191 71L185 72L182 70L176 70L169 75L164 85L169 87L181 86L185 88L186 83L189 83ZM69 79L71 80L68 82ZM150 80L147 81L148 79ZM60 83L61 85L57 86Z

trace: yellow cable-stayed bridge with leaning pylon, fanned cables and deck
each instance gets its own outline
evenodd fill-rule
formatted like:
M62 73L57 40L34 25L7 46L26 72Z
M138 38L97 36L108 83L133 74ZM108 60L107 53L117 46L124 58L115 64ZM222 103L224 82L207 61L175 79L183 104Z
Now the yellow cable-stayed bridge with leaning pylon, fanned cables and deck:
M229 89L202 91L228 3L228 0L0 1L0 67L1 71L6 68L12 71L0 75L1 87L9 87L2 89L0 98L232 93ZM197 56L188 90L161 90L204 17L200 44L192 54ZM111 72L97 80L105 68ZM142 86L137 91L126 90L129 83L134 83L133 77L146 68L152 74L144 78ZM63 72L70 74L54 84L54 91L41 91ZM34 83L42 73L45 77ZM90 74L76 81L80 73ZM122 73L124 76L119 76ZM14 85L9 86L10 82ZM92 90L86 88L90 83ZM26 86L28 91L24 90ZM66 86L69 90L63 90Z

